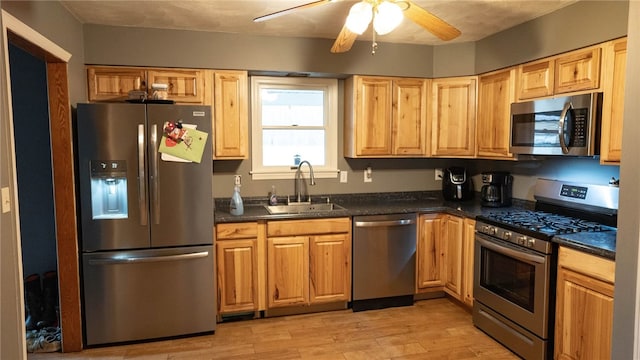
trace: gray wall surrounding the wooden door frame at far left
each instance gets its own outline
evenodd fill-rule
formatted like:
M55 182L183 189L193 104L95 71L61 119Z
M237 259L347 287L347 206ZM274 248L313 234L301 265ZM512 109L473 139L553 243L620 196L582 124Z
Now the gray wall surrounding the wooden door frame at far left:
M84 71L82 26L64 7L54 1L5 1L3 10L18 18L49 40L58 44L73 56L69 62L69 88L72 103L86 99L86 74ZM6 44L2 45L2 49ZM8 85L4 70L8 59L0 54L0 185L15 191L15 178L11 154L11 133L8 113ZM18 245L18 229L15 226L16 205L11 212L0 214L0 359L25 358L24 313L20 311L22 259Z

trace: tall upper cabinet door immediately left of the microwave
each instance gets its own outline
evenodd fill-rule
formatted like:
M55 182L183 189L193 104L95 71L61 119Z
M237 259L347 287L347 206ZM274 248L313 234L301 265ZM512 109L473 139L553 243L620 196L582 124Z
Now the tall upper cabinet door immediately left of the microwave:
M478 80L477 155L512 158L511 103L515 101L515 68L480 76Z

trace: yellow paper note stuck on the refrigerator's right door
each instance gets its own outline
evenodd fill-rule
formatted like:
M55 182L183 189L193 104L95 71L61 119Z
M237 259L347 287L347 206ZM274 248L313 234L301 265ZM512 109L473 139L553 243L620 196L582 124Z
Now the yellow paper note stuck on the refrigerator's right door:
M182 128L172 135L170 138L167 134L163 134L162 139L160 139L158 151L163 154L163 160L173 161L171 157L165 158L164 155L166 154L181 159L181 161L196 163L202 161L202 154L209 134L195 129L193 125L183 124Z

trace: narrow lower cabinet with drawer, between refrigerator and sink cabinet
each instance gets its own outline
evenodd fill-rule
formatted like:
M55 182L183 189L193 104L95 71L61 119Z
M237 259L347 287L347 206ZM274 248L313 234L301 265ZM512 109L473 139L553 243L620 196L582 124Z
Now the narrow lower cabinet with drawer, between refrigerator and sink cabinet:
M216 225L218 313L265 309L264 224Z

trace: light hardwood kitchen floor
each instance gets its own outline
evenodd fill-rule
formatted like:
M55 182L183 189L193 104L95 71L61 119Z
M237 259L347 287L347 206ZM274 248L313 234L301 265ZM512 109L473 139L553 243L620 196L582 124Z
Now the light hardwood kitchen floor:
M218 324L214 335L29 354L31 359L518 359L447 298L414 306Z

